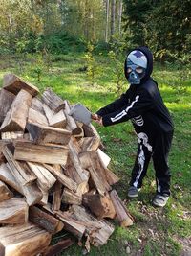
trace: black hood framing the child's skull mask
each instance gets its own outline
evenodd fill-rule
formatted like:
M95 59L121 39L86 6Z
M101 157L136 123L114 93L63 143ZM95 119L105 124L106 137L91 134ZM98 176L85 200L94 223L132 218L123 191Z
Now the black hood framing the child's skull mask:
M141 82L140 82L140 84L141 84L143 81L147 81L153 72L153 55L152 55L151 51L149 50L149 48L146 46L137 47L137 48L133 49L132 51L134 51L134 50L138 50L138 51L142 52L147 58L146 73L145 73L145 76L141 79ZM126 64L127 64L127 58L125 58L124 73L125 73L126 79L128 79L127 72L126 72L126 66L127 66Z

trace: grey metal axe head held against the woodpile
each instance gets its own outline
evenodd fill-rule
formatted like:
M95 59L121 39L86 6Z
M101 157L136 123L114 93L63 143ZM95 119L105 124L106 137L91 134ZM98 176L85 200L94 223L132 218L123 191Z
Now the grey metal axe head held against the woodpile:
M74 105L69 112L74 120L81 122L85 125L89 125L91 123L91 112L82 104L78 103Z

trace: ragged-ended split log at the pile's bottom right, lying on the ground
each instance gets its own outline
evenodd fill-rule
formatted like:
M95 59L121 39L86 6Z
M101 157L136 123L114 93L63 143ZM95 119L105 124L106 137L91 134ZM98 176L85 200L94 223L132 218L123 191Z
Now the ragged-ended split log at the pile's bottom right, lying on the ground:
M71 217L79 221L86 227L89 235L90 243L95 246L106 244L109 237L114 232L114 226L108 221L97 220L93 215L89 214L86 209L79 205L73 205L70 208Z

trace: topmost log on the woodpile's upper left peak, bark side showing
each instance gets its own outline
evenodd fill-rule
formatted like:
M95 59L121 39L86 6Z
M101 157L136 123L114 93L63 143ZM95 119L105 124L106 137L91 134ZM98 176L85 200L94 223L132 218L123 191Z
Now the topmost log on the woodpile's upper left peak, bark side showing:
M38 88L32 85L32 83L24 81L13 74L6 74L4 76L3 87L5 90L8 90L15 95L22 89L26 90L32 96L36 96L39 93Z

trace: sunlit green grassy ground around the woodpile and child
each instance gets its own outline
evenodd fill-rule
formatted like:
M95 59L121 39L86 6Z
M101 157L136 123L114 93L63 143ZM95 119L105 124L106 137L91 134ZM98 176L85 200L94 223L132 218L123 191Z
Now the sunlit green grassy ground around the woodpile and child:
M5 73L13 72L31 81L41 91L52 87L62 98L68 99L72 104L81 102L93 112L117 97L113 90L116 86L115 67L103 56L97 57L99 75L95 85L90 84L86 73L79 70L85 65L82 55L52 57L49 71L42 64L41 58L29 56L24 62L20 59L1 58L1 80ZM37 73L40 74L40 81ZM172 197L164 209L151 205L155 194L155 176L151 164L138 199L129 200L126 196L127 184L137 151L137 138L132 125L127 122L111 128L96 126L106 147L106 153L112 158L110 168L120 177L115 188L136 221L128 229L123 229L115 223L116 231L108 244L99 248L92 247L90 256L170 256L186 255L183 251L191 250L191 81L180 81L178 71L159 66L156 66L154 78L159 82L162 97L175 123L175 135L169 156ZM182 83L182 87L185 86L187 90L178 90L178 87L175 89L175 81L178 85ZM56 235L59 236L65 234ZM56 237L53 241L57 240ZM82 247L74 245L62 255L77 256L82 253Z

